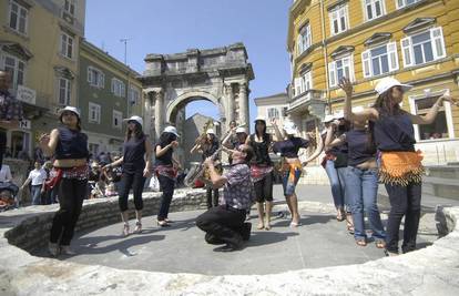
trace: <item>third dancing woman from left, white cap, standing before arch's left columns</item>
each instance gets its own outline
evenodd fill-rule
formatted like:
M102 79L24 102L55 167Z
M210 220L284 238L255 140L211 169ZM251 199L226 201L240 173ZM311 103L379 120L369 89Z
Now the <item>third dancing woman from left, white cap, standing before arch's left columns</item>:
M175 177L178 162L174 159L174 149L178 146L178 133L174 126L166 126L156 143L155 171L160 181L161 196L160 212L157 213L157 225L161 227L169 226L170 220L169 207L174 196Z

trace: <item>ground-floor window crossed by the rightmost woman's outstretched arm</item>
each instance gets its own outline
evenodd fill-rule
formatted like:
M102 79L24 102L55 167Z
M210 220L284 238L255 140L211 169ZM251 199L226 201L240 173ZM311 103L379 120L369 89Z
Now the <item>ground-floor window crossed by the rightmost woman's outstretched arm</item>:
M418 99L415 101L416 114L424 115L435 104L439 95ZM431 124L418 125L420 140L445 139L449 137L448 123L445 113L445 106L441 106L438 111L435 122Z

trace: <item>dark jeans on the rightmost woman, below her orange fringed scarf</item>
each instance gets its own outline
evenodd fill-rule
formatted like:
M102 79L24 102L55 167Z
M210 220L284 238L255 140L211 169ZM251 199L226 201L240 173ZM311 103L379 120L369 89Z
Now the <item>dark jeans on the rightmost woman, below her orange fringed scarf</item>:
M405 216L404 253L416 249L416 236L419 228L421 206L421 183L409 183L407 186L386 184L390 201L390 214L387 222L386 248L398 253L398 232L401 218Z

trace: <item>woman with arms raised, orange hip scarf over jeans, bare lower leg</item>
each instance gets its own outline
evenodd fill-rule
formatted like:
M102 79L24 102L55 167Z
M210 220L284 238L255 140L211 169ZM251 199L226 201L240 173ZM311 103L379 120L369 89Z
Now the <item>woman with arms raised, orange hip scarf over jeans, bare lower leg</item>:
M274 143L273 151L279 153L284 157L283 170L283 187L285 200L287 201L288 210L292 214L290 227L297 227L300 225L298 213L298 198L295 193L296 184L303 172L303 163L298 159L298 151L300 147L307 147L309 145L309 136L302 139L295 136L297 133L296 125L293 122L286 121L284 123L285 137L280 133L276 121L272 122L276 137L279 140Z

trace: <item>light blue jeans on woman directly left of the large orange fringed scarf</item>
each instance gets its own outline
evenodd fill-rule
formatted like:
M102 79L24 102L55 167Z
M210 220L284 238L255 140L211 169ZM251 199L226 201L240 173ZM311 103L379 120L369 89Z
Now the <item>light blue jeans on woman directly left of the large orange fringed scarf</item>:
M384 241L386 233L382 227L381 217L377 204L378 173L377 169L360 170L348 166L346 174L346 195L351 198L350 211L354 220L354 237L366 238L364 211L377 241Z

